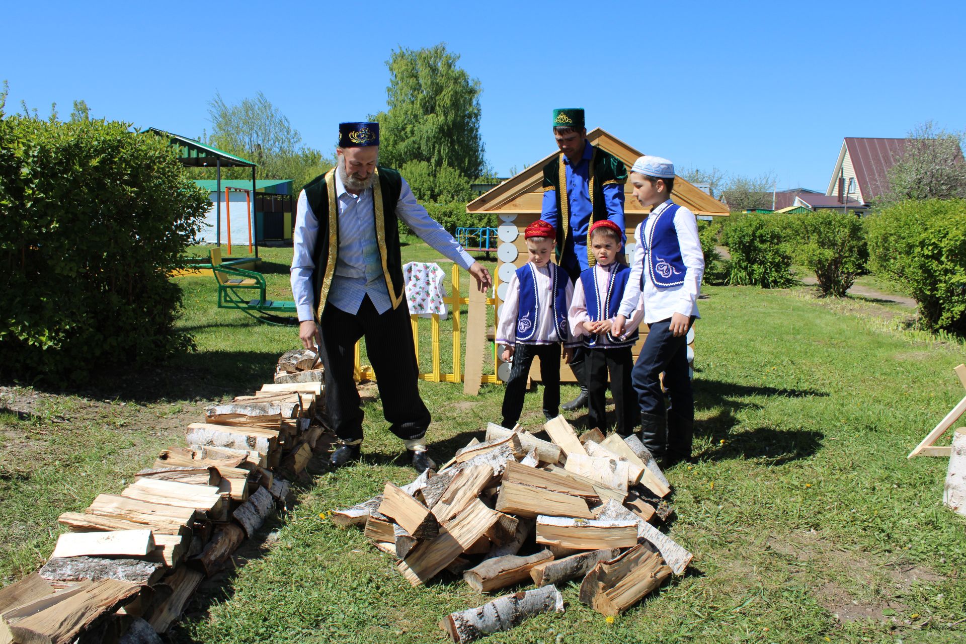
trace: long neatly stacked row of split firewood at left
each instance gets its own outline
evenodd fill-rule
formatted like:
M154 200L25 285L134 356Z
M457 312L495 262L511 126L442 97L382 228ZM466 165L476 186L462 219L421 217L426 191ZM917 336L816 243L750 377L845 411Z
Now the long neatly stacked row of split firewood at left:
M70 532L43 568L0 589L0 644L160 642L201 581L284 508L323 434L317 357L290 351L279 371L302 379L206 407L185 446L61 515Z

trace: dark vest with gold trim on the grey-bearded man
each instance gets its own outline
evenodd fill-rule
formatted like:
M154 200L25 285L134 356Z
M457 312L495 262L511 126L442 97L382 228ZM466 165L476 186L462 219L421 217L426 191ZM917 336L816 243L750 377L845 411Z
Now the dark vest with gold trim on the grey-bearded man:
M383 260L385 287L392 300L392 308L406 297L403 263L399 252L399 227L396 224L396 205L403 189L403 178L395 170L379 166L373 182L372 202L376 217L376 240ZM323 303L332 284L332 275L339 258L339 207L335 203L335 168L305 185L309 208L319 220L319 237L315 242L315 269L312 285L316 294L315 319L320 320Z

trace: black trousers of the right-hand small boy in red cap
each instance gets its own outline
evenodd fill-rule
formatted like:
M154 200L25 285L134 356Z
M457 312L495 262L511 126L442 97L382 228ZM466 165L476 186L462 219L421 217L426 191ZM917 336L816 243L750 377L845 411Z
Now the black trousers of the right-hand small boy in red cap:
M585 349L587 383L587 427L607 434L607 381L611 373L611 395L617 434L631 434L637 425L638 400L631 384L634 354L630 347Z

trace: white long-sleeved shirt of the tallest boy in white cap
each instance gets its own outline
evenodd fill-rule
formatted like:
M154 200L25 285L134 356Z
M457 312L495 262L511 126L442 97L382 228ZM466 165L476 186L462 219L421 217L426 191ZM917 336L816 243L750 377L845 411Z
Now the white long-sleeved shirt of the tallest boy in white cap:
M665 202L667 203L667 202ZM661 208L664 206L658 206ZM657 209L655 209L657 210ZM684 262L684 284L661 289L650 279L650 270L645 270L644 263L650 263L651 254L646 247L646 239L654 227L654 217L648 216L639 223L634 231L638 241L638 250L631 263L631 276L627 280L627 289L620 302L618 312L625 318L638 307L641 299L640 275L644 277L643 306L644 322L652 324L668 320L673 314L697 317L697 295L701 293L701 276L704 274L704 254L701 252L701 241L697 238L697 220L695 213L684 206L674 213L674 230L677 232L677 242L681 247L681 260Z

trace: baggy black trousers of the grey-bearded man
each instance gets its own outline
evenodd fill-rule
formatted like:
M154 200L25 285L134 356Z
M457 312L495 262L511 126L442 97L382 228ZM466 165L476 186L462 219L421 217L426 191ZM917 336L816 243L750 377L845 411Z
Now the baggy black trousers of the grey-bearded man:
M412 346L406 302L380 315L368 295L355 315L326 306L320 323L326 367L326 405L332 430L342 440L362 437L362 408L355 389L355 343L365 337L366 352L383 401L389 431L403 440L422 438L429 409L419 397L419 366Z

